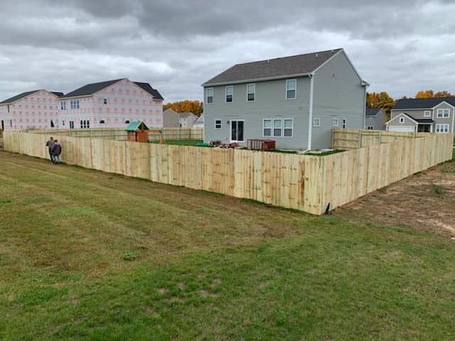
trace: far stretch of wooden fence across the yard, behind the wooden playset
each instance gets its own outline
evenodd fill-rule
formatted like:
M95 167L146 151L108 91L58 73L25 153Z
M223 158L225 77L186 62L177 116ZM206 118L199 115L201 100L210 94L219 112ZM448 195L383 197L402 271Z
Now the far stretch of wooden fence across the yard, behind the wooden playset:
M203 128L151 128L161 130L165 140L203 140ZM92 128L92 129L40 129L29 131L33 134L48 136L60 135L71 137L90 137L92 139L127 140L127 132L123 128ZM149 133L149 141L159 141L159 134Z

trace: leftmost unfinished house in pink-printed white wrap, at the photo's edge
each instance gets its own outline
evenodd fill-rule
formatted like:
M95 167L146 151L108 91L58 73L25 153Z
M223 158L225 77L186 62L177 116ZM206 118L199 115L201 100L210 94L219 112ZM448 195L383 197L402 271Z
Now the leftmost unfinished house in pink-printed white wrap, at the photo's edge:
M0 102L0 129L50 129L60 127L58 99L63 92L34 90Z

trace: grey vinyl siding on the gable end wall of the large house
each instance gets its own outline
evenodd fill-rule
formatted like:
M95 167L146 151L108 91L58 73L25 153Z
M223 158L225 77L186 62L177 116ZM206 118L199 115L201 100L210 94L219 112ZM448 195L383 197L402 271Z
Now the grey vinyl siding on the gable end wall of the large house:
M311 149L330 148L332 120L343 119L347 128L363 129L365 87L343 52L328 61L314 76L313 118L321 126L313 127Z

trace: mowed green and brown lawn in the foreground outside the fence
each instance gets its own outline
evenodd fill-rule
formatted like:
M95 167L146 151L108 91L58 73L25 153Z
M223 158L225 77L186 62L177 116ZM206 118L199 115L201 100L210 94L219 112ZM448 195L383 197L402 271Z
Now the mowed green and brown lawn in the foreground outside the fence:
M1 340L455 338L446 237L10 153L0 200Z

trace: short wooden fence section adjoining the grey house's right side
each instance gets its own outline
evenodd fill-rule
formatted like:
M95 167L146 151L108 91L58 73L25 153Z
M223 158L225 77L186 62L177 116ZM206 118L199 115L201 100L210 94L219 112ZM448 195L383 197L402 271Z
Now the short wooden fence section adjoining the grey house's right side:
M432 135L431 133L406 133L385 130L341 128L334 128L332 133L332 148L334 149L363 148L376 144L390 144L390 142L394 141L419 139Z

